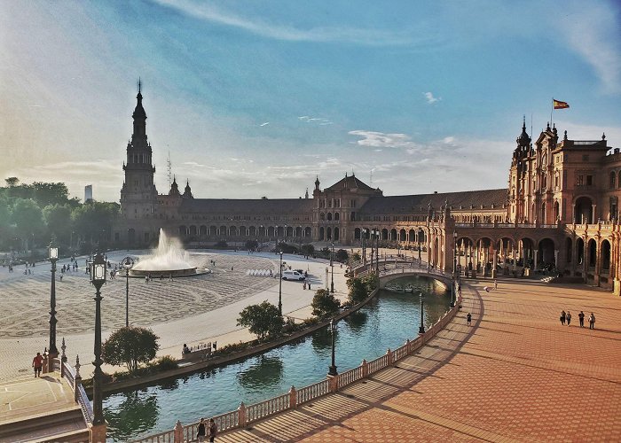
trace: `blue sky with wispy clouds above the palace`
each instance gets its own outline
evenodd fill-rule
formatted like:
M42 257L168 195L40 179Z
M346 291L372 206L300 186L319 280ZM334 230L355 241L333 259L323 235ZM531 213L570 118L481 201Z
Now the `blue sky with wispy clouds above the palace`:
M560 134L621 147L614 1L0 0L0 58L0 178L79 198L120 198L138 78L160 193L168 158L196 198L352 173L384 195L504 188L552 97Z

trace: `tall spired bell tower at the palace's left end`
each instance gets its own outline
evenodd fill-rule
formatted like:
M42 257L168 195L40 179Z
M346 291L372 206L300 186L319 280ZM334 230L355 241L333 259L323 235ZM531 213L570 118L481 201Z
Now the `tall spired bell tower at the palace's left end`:
M123 162L125 182L121 189L121 214L126 221L153 218L157 205L153 152L146 138L146 113L142 105L142 82L139 80L136 98L136 108L131 115L134 132L127 144L127 159Z

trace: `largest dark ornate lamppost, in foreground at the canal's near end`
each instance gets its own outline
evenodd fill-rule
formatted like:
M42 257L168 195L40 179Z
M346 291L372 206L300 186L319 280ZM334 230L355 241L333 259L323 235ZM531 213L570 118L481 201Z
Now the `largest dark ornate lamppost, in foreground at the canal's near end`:
M93 425L103 425L106 429L101 397L102 371L101 364L101 286L106 283L106 260L97 253L90 264L90 283L95 286L95 361L93 365ZM104 434L106 432L104 431Z

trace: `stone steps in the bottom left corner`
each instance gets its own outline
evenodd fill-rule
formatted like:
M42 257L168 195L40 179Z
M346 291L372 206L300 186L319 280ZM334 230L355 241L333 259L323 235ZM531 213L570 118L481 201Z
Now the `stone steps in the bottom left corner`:
M84 423L79 405L23 416L0 424L0 442L63 442L89 441L89 430Z

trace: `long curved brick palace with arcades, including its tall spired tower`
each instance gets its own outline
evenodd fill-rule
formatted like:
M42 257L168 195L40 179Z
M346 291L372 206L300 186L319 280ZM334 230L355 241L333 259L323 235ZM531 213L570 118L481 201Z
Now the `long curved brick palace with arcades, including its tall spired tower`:
M142 94L123 164L122 215L114 243L151 245L160 229L186 244L286 241L426 248L431 266L496 275L554 268L619 293L621 153L605 136L561 140L549 124L532 143L523 124L508 186L496 190L384 196L355 175L304 198L195 198L177 179L167 194L155 188Z

